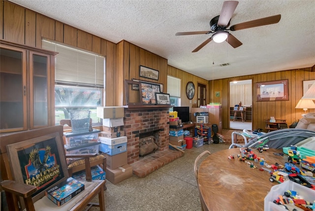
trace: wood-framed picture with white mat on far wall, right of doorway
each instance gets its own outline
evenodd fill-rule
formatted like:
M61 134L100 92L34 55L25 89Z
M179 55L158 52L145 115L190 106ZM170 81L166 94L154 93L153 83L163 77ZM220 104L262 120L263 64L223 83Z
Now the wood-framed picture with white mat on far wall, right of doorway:
M256 83L257 101L288 101L288 79Z

